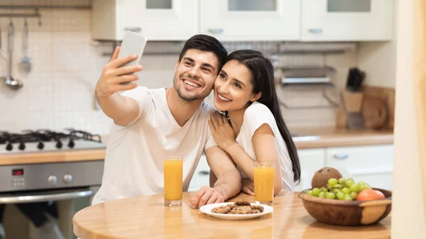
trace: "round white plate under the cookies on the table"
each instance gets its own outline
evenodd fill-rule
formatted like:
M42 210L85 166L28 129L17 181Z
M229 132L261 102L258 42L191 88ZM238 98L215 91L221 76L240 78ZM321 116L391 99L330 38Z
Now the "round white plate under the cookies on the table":
M234 204L234 203L207 204L207 205L200 207L200 211L202 211L203 213L206 213L207 215L213 216L215 218L226 219L226 220L244 220L244 219L258 218L259 216L266 215L266 214L271 213L273 211L272 206L268 206L268 205L264 205L264 204L251 204L251 205L263 206L263 212L262 213L250 213L250 214L212 213L212 209L214 209L218 206L224 206L224 205L228 205L228 204Z

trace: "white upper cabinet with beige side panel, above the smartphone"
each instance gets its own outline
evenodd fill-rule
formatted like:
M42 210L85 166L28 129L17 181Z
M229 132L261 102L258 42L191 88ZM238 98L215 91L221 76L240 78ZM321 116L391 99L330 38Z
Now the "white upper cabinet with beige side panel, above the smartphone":
M198 0L93 0L92 38L122 40L126 30L148 40L187 40L198 33Z

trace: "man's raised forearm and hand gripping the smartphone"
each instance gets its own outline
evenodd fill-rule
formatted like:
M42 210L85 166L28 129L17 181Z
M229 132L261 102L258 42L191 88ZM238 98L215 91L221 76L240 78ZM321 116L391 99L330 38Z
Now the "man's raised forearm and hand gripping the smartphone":
M114 120L119 126L125 126L138 116L139 106L136 100L130 97L121 96L119 91L134 89L137 85L133 83L138 79L136 74L142 70L141 66L120 67L126 62L136 59L136 55L129 55L117 59L120 48L117 47L111 60L104 65L101 77L96 85L96 96L102 111ZM123 85L123 82L132 82Z

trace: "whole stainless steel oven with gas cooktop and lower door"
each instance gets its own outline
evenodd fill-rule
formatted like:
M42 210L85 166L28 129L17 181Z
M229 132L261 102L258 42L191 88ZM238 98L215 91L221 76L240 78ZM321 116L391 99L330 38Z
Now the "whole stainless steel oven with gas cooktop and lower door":
M29 208L33 211L38 207L55 222L63 238L75 238L72 233L72 216L91 204L92 197L102 182L104 158L68 162L63 160L63 155L78 150L104 148L106 145L99 135L84 131L58 133L37 130L20 134L0 132L0 163L2 158L7 157L20 160L20 164L16 165L0 164L0 213L4 213L6 238L34 238L37 231L34 221L30 220L33 223L29 223L28 218L31 217L23 210ZM62 159L22 163L24 157L43 155L62 155L58 156ZM16 214L21 214L21 221L13 221ZM23 218L26 219L24 223Z

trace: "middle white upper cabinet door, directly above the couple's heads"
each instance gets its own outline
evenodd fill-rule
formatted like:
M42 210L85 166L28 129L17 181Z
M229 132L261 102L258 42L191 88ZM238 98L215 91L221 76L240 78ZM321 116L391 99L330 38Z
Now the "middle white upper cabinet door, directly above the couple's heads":
M201 1L201 33L219 40L298 40L300 0Z

